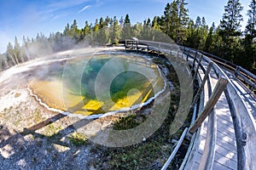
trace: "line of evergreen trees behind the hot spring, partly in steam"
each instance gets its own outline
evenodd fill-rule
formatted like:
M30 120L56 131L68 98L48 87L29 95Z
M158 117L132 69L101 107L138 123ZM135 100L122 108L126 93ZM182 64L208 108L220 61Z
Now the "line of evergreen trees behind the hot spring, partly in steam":
M6 53L0 58L0 69L34 59L38 53L50 54L74 48L84 42L90 45L118 44L120 40L131 37L157 41L160 40L160 34L155 32L163 31L177 44L215 54L255 74L255 0L251 0L249 4L247 26L244 31L241 31L243 7L239 0L228 0L218 26L214 23L208 26L204 17L190 19L187 4L185 0L173 0L172 3L166 4L161 16L155 16L153 20L148 18L134 25L131 25L129 14L126 14L125 19L121 17L118 20L116 17L107 16L105 19L96 19L94 24L85 21L83 28L79 28L77 20L73 20L72 25L67 24L62 32L50 33L49 37L42 33L32 39L23 37L21 45L15 37L15 45L9 42Z

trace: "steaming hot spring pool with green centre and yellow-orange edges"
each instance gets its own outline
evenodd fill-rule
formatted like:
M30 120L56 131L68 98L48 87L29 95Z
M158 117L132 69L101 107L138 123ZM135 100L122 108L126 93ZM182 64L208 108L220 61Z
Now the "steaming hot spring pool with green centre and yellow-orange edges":
M49 108L91 116L147 105L166 82L141 56L96 54L41 66L29 88Z

